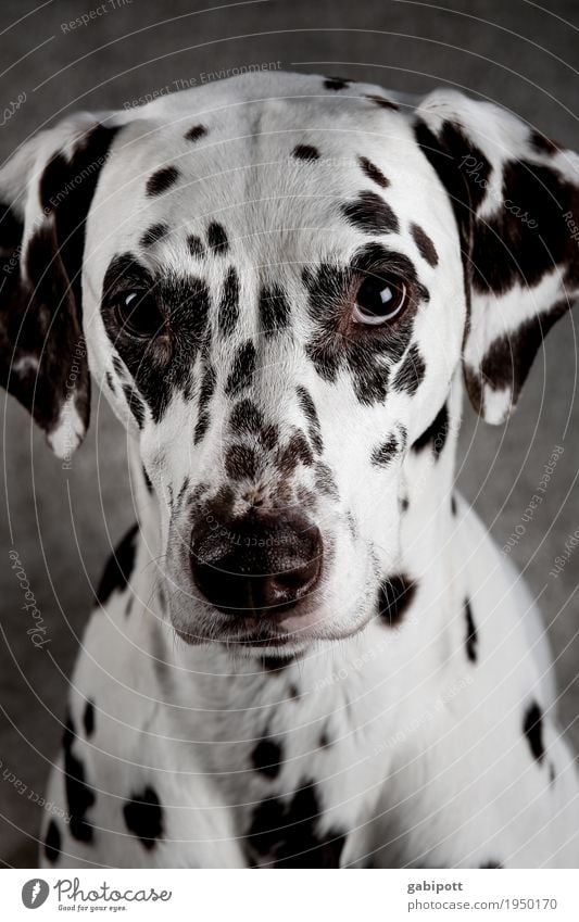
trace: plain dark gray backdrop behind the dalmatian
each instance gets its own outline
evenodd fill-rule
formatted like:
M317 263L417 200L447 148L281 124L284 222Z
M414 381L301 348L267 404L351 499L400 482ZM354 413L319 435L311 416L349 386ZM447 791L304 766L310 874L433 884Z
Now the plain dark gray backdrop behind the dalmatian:
M0 110L23 91L27 97L3 127L1 161L63 113L122 106L174 81L200 80L206 72L278 60L285 70L338 73L412 92L440 84L462 87L579 148L577 0L551 2L549 11L525 0L266 0L209 12L190 2L104 3L105 13L66 33L61 24L99 3L35 8L29 0L3 0ZM577 748L579 548L558 579L549 577L579 525L576 377L576 331L568 316L539 354L519 409L505 428L479 424L466 409L458 482L504 544L520 525L554 446L565 449L513 557L541 594L557 656L561 720ZM26 866L35 861L41 819L34 798L43 791L62 734L67 677L91 584L134 514L126 440L97 400L90 435L72 471L62 470L12 400L3 414L2 456L0 857ZM12 546L47 623L50 644L43 651L26 635L24 599L8 557ZM24 794L12 774L26 786Z

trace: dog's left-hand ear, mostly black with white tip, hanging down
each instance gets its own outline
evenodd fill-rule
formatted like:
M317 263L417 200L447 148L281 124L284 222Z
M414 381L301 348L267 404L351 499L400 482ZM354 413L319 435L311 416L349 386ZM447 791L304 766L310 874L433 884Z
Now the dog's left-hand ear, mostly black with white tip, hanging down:
M0 383L59 457L90 414L80 273L85 220L115 128L80 114L0 169Z

